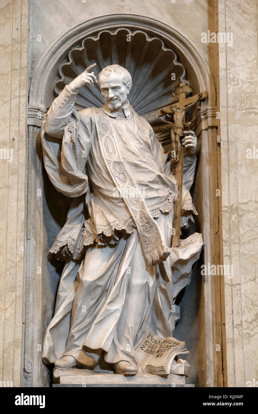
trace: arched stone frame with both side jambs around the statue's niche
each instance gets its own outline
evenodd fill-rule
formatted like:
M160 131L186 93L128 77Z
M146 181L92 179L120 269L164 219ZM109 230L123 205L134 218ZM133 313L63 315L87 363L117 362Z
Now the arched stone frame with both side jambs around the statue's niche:
M219 202L219 197L217 197L217 200L216 197L214 198L214 188L219 188L220 185L218 178L219 169L217 168L217 164L219 163L219 150L217 149L217 121L215 119L217 111L216 89L207 61L201 56L201 53L195 45L186 39L186 36L162 22L133 14L113 14L97 17L74 26L69 31L63 33L46 49L44 55L36 66L29 90L28 117L37 118L35 115L38 113L39 108L45 108L46 110L46 108L51 106L54 99L53 85L55 84L59 68L63 65L66 56L68 56L72 49L78 48L78 45L82 44L83 40L86 38L93 37L96 39L100 31L110 31L111 33L115 33L116 31L121 30L121 28L127 30L128 33L144 32L146 34L144 36L148 36L149 39L159 39L159 42L163 42L166 49L173 51L177 56L181 67L186 70L187 77L182 72L178 75L178 79L187 79L193 88L193 94L205 90L208 92L206 108L200 112L198 120L197 135L199 136L200 142L200 156L195 186L198 188L198 192L202 195L201 200L197 200L198 205L196 205L196 207L199 213L198 226L203 233L205 243L203 260L206 264L207 262L214 263L216 260L215 256L218 255L220 249L218 245L219 241L216 239L216 237L220 237L219 229L214 219L217 211L216 202ZM58 82L56 83L56 87L58 87ZM59 85L59 87L61 87L61 85ZM58 93L58 90L56 90L56 92ZM36 120L34 123L31 122L31 119L28 120L29 125L40 126L40 123L40 119ZM43 335L46 320L52 310L49 307L43 310L40 308L41 290L44 291L44 289L42 289L42 280L40 277L35 281L35 269L39 266L40 260L43 262L46 258L43 258L44 252L41 252L41 246L39 244L39 239L43 234L42 228L44 227L42 220L43 202L41 202L41 204L39 202L37 210L31 201L33 198L38 198L36 197L36 190L38 188L43 188L40 164L40 138L38 128L30 127L29 142L31 142L32 148L34 148L34 141L37 141L37 144L35 143L35 149L31 150L32 158L29 158L31 176L29 175L30 171L28 173L28 180L31 180L33 187L31 195L28 195L29 219L27 234L29 234L29 236L27 238L31 241L30 244L28 242L29 248L27 247L26 275L26 283L34 286L33 295L35 296L35 307L30 313L28 309L26 323L28 326L33 326L34 331L32 337L29 337L28 335L25 336L25 355L28 355L28 361L37 361L36 368L35 366L33 367L31 378L34 378L32 380L34 386L39 386L42 381L41 371L43 370L46 372L46 367L42 367L39 358L35 355L35 349L37 349L36 344L39 343L40 335ZM38 151L39 154L38 158L36 151ZM34 162L35 165L30 167L30 162ZM34 181L31 178L33 177L33 174ZM31 207L31 205L33 207ZM32 211L32 209L34 210ZM52 275L50 276L52 277ZM48 282L49 286L51 286L52 283L50 276ZM219 283L221 283L221 285ZM218 279L216 279L216 281L205 280L202 288L205 315L203 316L204 327L200 335L205 338L203 341L205 352L203 352L203 361L201 361L201 364L203 364L203 370L205 370L203 384L207 383L208 386L222 386L221 353L215 352L214 349L214 344L220 342L219 335L221 335L221 319L219 319L218 308L221 306L220 303L222 301L219 296L219 290L221 290L221 292L223 290L222 284L223 281L219 282ZM46 293L46 295L47 294L48 293ZM196 353L198 354L198 352L199 349ZM24 366L26 366L26 360ZM223 357L224 370L225 367L226 361ZM28 369L25 368L25 371L28 372ZM45 375L45 378L46 376L47 374Z

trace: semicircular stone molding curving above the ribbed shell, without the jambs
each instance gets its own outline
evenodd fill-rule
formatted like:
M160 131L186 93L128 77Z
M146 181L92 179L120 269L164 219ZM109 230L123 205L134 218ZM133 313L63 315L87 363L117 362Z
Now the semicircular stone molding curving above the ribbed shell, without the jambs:
M150 38L157 37L164 42L166 48L171 49L180 59L181 64L191 73L191 86L193 92L200 90L208 92L208 105L216 104L215 84L210 68L205 58L196 50L183 34L162 22L149 17L134 14L112 14L96 17L82 22L63 33L47 49L39 61L31 80L29 103L48 107L51 105L54 94L50 85L56 80L58 68L64 62L71 49L87 37L96 37L100 31L116 31L128 29L131 32L144 31Z

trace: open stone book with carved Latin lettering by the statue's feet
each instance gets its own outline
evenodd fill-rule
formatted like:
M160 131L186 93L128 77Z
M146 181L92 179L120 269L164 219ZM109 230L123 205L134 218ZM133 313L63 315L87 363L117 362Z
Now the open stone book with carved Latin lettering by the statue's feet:
M171 373L171 364L176 365L173 373L187 375L189 364L186 361L174 358L178 354L188 354L186 343L173 337L157 337L151 330L147 330L140 344L135 349L135 355L141 367L141 373L167 375ZM182 361L182 362L181 362ZM179 366L181 365L181 366ZM181 368L181 369L180 369ZM190 366L189 366L190 368ZM177 372L178 371L178 372Z

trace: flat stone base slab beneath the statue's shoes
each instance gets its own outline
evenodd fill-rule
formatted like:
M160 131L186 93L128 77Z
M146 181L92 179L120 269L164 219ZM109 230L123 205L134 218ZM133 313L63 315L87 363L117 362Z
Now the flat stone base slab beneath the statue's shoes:
M161 377L152 374L125 376L113 373L95 373L88 369L70 368L60 370L54 368L53 387L194 387L186 384L185 375L166 375Z

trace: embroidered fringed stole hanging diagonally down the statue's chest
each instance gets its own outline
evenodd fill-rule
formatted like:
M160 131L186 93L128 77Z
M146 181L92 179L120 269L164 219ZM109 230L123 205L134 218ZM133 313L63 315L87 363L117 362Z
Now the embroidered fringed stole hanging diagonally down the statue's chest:
M133 115L135 119L137 115ZM149 213L145 200L123 161L109 116L102 108L95 108L95 123L104 162L133 217L147 259L147 265L157 265L165 261L170 255L169 248L162 240L159 226ZM142 128L138 128L139 134L140 130Z

